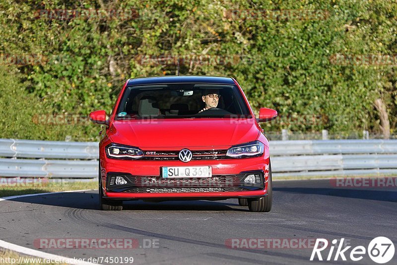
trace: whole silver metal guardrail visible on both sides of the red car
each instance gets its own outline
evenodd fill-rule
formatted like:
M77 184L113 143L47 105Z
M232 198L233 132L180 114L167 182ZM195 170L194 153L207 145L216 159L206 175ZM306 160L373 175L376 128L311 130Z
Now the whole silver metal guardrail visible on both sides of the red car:
M271 141L270 155L274 177L397 174L397 140ZM0 139L0 176L97 177L98 156L95 142Z

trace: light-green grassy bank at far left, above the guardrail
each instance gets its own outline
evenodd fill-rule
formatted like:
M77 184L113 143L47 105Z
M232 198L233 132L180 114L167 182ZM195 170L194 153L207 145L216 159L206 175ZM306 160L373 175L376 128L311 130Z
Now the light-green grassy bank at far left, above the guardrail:
M0 138L30 140L97 140L98 127L86 116L56 114L53 102L27 93L24 75L0 66ZM57 118L58 117L58 118Z

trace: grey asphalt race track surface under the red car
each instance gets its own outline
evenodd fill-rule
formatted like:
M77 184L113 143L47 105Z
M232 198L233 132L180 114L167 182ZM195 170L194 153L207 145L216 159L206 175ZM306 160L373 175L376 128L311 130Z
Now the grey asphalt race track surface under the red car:
M269 213L249 212L237 199L130 201L123 211L99 211L95 190L1 201L0 239L35 250L34 241L43 238L134 239L139 246L133 249L41 249L68 258L133 257L133 264L375 264L367 254L360 262L310 262L312 248L276 242L344 238L367 248L386 236L397 246L396 188L335 188L325 179L273 186ZM270 240L270 248L227 247L230 239L258 238ZM155 248L142 248L149 240ZM322 253L326 259L329 249ZM397 264L397 254L387 264Z

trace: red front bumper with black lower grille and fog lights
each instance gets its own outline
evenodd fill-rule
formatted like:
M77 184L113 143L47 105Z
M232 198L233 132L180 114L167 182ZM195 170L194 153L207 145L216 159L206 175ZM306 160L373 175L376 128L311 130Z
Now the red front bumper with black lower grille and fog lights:
M269 158L181 161L117 160L100 154L104 198L108 199L227 199L258 198L267 195ZM210 178L162 178L162 167L211 166ZM247 184L245 177L254 174L261 181ZM115 185L120 176L127 184ZM112 184L113 183L113 184Z

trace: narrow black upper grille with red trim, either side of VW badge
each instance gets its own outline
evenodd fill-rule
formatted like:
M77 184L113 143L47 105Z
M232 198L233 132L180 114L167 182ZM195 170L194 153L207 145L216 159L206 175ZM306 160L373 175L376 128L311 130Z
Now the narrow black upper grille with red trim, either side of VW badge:
M226 159L227 150L192 151L192 160ZM179 160L179 151L143 151L141 160Z

